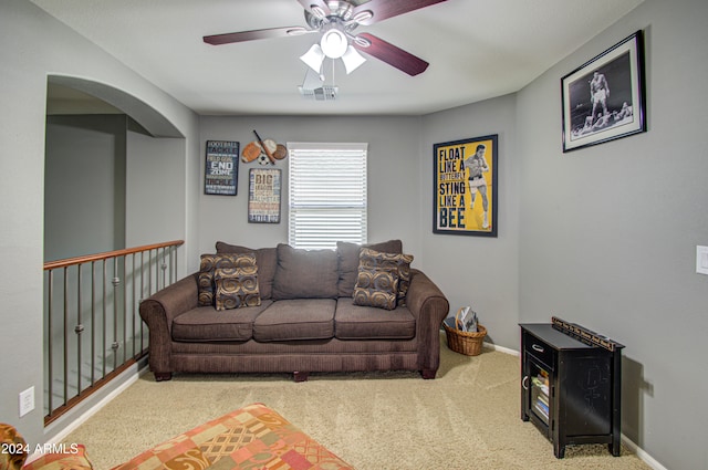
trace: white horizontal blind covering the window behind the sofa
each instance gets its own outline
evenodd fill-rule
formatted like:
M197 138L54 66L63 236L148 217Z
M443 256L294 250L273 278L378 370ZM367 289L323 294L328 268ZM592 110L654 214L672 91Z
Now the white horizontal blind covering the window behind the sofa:
M288 143L289 234L294 248L366 242L367 144Z

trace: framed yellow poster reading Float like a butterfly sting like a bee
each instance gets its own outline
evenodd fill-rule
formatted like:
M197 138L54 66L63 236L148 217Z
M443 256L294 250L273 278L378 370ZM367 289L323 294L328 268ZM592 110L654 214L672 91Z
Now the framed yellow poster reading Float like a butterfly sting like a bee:
M498 135L435 144L433 232L497 237Z

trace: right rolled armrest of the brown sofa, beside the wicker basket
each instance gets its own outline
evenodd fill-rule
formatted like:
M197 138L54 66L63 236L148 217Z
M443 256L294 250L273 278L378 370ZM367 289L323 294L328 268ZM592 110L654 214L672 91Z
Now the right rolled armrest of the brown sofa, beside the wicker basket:
M416 318L418 367L424 378L435 378L440 366L440 324L450 304L425 273L412 269L406 305Z

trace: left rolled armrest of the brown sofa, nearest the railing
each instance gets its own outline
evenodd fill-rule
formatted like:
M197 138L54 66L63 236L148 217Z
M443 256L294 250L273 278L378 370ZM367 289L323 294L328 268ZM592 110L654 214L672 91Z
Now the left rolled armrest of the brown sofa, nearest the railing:
M170 351L173 320L198 306L197 273L180 279L140 302L140 317L149 330L149 365L155 377L171 374Z

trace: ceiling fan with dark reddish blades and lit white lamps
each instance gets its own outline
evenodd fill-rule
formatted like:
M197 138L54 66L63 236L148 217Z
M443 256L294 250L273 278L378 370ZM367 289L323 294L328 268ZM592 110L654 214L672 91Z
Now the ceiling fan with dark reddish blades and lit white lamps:
M369 33L354 31L388 18L418 10L446 0L298 0L304 8L306 27L269 28L204 36L212 45L258 39L284 38L321 33L321 41L300 59L320 72L325 58L342 59L346 73L360 66L365 59L356 51L376 58L410 76L425 72L428 63Z

